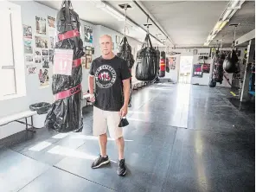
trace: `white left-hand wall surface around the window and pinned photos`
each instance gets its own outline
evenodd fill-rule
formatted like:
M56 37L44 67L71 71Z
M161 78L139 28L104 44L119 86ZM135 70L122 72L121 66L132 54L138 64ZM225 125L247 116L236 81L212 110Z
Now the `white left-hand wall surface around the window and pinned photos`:
M41 3L35 3L34 1L13 1L12 3L16 3L21 6L22 10L22 24L29 25L32 27L32 42L35 48L35 16L41 16L47 19L48 16L55 17L57 14L57 10L51 9ZM81 38L84 40L84 25L93 27L93 44L92 46L95 48L95 54L93 54L93 59L100 55L99 49L99 36L108 34L112 35L112 39L115 42L115 35L121 34L118 32L107 29L103 26L94 26L91 23L80 21L81 24ZM47 23L47 35L48 35L48 23ZM129 43L132 48L137 48L140 42L135 41L134 39L128 38ZM85 44L84 44L85 46ZM114 52L117 53L117 45L115 43ZM35 64L37 65L37 64ZM42 64L38 64L39 66ZM83 80L82 86L83 91L86 92L88 89L87 85L87 77L88 77L89 69L83 68ZM26 72L27 73L27 72ZM38 73L38 71L37 71ZM37 103L37 102L53 102L53 94L51 89L52 83L52 67L49 68L49 86L47 88L40 88L38 74L26 74L26 96L16 99L8 99L8 100L0 100L0 117L12 114L14 112L22 112L24 110L29 110L29 105ZM17 123L11 123L9 125L0 126L0 139L8 137L18 131L22 131L25 129L24 125L20 125Z

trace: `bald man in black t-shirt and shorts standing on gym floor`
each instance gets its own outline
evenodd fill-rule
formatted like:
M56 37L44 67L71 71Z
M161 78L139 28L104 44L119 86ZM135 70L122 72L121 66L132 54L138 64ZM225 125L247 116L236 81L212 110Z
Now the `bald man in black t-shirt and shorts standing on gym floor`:
M125 176L125 140L123 130L118 127L120 119L128 111L130 97L130 70L125 60L112 53L112 37L102 35L99 38L102 55L95 59L89 71L89 93L93 105L93 135L99 136L100 156L93 162L92 168L110 163L106 155L106 128L118 145L118 175ZM96 82L95 94L93 82ZM124 96L123 96L124 94Z

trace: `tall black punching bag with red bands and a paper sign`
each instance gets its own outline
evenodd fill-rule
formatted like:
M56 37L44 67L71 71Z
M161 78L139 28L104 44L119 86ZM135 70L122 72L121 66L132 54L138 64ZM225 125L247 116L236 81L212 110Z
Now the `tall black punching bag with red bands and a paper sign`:
M54 103L48 111L45 126L58 132L80 132L83 128L80 58L84 52L80 39L80 18L70 1L63 1L56 27L58 41L54 45L52 83Z

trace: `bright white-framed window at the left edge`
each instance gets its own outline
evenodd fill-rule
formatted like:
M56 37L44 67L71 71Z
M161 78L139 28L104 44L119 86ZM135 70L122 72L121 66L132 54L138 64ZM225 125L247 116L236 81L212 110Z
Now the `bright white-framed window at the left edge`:
M0 99L21 97L26 94L22 16L19 5L0 3Z

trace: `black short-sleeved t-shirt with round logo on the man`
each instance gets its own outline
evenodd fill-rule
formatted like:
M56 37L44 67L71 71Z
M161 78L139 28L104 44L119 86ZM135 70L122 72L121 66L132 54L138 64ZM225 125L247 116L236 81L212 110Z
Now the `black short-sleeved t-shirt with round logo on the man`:
M131 78L125 60L118 56L105 60L101 56L93 60L89 74L96 82L94 106L104 111L118 112L124 105L123 82Z

